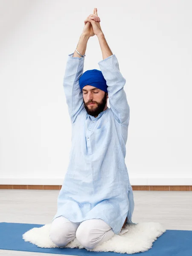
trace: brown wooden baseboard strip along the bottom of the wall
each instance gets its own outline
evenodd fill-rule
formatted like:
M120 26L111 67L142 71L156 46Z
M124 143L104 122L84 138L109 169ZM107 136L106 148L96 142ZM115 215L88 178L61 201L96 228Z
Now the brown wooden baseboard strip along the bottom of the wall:
M60 190L61 185L0 185L0 189L51 189ZM133 190L192 191L192 186L132 186Z

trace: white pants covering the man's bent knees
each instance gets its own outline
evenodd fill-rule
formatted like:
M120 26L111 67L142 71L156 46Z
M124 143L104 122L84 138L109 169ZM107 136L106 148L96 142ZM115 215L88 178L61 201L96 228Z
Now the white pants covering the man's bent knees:
M96 246L111 239L115 233L102 219L71 222L63 216L52 221L50 239L59 247L77 238L84 248L93 250Z

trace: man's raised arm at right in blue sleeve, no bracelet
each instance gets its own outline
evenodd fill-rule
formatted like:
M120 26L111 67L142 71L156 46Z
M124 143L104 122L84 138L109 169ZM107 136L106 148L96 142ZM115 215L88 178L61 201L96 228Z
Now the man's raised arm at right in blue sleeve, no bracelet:
M90 23L93 27L93 32L99 39L99 44L102 50L103 60L99 61L98 64L108 85L107 90L111 110L119 123L122 125L128 125L129 105L123 88L126 80L119 71L119 63L116 56L111 52L111 49L108 46L100 23L95 20L91 20L91 18Z

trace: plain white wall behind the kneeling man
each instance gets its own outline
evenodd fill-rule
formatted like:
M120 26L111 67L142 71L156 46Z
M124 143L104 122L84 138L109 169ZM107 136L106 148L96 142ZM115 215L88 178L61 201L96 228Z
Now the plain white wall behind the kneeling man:
M62 184L71 146L64 70L94 7L126 79L131 185L191 185L190 0L1 0L0 184ZM85 54L84 71L99 69L96 36Z

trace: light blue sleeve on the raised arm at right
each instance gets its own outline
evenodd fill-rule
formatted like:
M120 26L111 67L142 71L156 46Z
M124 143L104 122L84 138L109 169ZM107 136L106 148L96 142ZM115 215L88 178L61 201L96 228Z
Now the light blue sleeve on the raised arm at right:
M123 88L126 80L119 71L118 60L113 54L99 61L98 64L108 85L107 90L111 110L119 123L128 125L130 109Z

